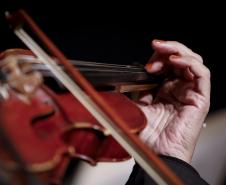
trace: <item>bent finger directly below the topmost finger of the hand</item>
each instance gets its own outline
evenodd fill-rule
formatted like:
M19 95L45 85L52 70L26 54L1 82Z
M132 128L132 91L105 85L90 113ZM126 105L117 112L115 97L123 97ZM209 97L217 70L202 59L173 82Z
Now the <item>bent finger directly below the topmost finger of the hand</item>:
M176 68L189 69L197 80L197 90L204 96L210 94L210 71L192 56L170 56L171 64Z

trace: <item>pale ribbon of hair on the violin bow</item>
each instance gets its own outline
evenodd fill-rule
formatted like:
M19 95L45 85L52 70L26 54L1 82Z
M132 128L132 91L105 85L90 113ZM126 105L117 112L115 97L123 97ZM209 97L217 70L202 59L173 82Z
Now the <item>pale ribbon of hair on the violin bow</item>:
M118 128L112 120L90 99L88 95L59 67L54 60L49 57L22 29L16 28L15 34L41 59L43 63L53 72L53 74L68 88L68 90L82 103L86 109L105 127L108 128L112 136L127 149L143 169L161 185L167 185L166 180L153 168L152 161L140 154L140 148L134 145L123 132L118 132ZM148 162L149 161L149 162Z

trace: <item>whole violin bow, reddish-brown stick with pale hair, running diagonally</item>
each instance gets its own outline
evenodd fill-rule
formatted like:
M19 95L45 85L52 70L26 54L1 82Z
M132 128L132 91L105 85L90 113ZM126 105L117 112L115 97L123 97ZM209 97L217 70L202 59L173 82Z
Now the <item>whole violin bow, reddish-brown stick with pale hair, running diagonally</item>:
M133 156L136 162L161 185L184 185L169 167L148 148L136 135L129 132L125 121L105 102L93 86L83 77L63 53L52 43L32 18L24 11L14 14L6 13L6 17L15 34L43 61L50 71L65 87L82 103L84 107L105 127L111 135ZM22 28L26 23L45 44L50 53L57 57L70 77L47 55L44 50Z

